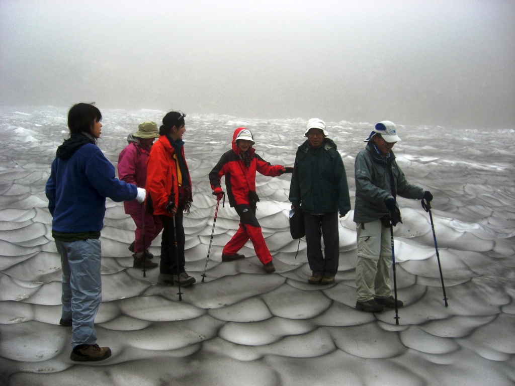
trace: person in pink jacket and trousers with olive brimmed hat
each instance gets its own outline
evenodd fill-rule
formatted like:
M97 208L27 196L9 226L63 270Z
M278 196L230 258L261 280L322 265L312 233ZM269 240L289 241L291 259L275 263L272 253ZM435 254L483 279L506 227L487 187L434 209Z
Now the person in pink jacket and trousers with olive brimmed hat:
M138 131L129 134L129 145L122 150L118 157L118 178L137 187L145 187L147 181L147 159L154 139L159 137L158 126L155 122L142 122ZM136 224L135 240L130 244L129 251L134 252L134 268L156 268L157 263L149 261L153 256L148 247L163 230L163 224L158 216L144 213L143 205L136 200L124 201L125 213L130 215ZM145 226L143 226L145 225ZM143 245L143 227L145 228L145 245Z

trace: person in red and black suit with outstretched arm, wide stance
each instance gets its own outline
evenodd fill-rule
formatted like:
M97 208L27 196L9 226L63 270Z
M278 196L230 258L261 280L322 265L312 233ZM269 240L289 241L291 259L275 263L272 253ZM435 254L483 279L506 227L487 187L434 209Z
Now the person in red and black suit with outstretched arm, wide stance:
M273 266L272 256L261 232L261 225L255 216L256 202L259 201L255 184L256 170L264 176L276 177L293 172L293 168L270 165L255 153L252 147L254 144L254 138L249 129L237 128L232 138L232 150L221 156L220 161L209 173L209 180L213 195L220 200L224 196L220 179L225 176L229 204L236 209L240 219L238 231L222 251L222 261L245 258L237 252L250 239L265 272L272 273L276 268Z

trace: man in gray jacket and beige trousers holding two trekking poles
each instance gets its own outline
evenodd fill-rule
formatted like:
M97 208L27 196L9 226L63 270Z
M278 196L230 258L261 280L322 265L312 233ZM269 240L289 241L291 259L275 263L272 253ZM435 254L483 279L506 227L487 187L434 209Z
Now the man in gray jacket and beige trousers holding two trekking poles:
M381 312L384 307L395 308L390 287L392 257L388 228L390 221L393 226L402 222L397 195L417 200L433 199L429 191L406 181L391 151L399 141L401 138L393 122L379 122L365 140L368 144L358 153L354 164L357 310ZM397 307L402 305L397 301Z

